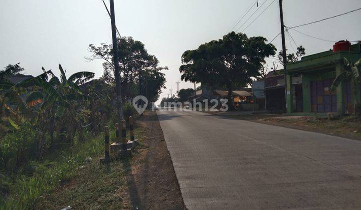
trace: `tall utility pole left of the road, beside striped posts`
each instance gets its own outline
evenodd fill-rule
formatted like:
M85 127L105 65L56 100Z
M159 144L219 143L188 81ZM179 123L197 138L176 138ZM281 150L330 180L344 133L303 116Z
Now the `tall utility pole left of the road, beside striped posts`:
M117 94L117 109L118 109L118 122L120 123L123 119L123 103L121 99L121 89L120 89L120 72L119 72L119 57L118 57L118 45L116 37L116 26L115 26L115 13L114 13L114 0L110 1L110 19L111 19L111 29L112 29L112 39L113 39L113 59L114 59L114 78L115 78L115 88Z

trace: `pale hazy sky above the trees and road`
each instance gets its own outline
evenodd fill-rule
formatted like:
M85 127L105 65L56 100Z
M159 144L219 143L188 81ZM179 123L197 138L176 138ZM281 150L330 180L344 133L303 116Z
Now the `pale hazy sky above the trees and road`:
M143 42L161 66L169 67L164 71L167 89L163 89L160 99L170 93L169 89L173 94L176 92L182 53L222 38L255 2L114 1L120 34ZM42 66L57 72L61 63L67 75L81 70L95 72L95 77L102 75L101 60L89 62L84 58L91 55L87 50L89 44L111 43L110 19L102 0L0 0L0 3L0 69L20 62L26 74L38 75L42 73ZM106 3L109 5L108 0ZM283 0L284 22L286 26L294 26L360 7L361 0ZM234 30L242 26L238 32L264 36L270 41L280 32L279 18L278 0L259 0L258 7L252 7ZM359 40L360 19L361 10L358 10L295 29L326 40ZM294 30L289 32L294 41L286 33L288 52L294 51L291 46L295 48L295 43L305 47L306 55L332 48L332 41L315 39ZM272 43L280 50L281 36ZM193 84L180 81L179 89L188 87Z

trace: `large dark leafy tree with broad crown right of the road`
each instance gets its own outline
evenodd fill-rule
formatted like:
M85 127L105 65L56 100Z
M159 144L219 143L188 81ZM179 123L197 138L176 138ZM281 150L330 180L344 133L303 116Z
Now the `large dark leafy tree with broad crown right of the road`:
M245 87L251 77L259 76L265 57L275 54L276 48L262 36L247 37L231 32L222 39L187 50L179 67L185 81L202 82L209 86L224 86L228 90L228 105L233 109L232 90Z

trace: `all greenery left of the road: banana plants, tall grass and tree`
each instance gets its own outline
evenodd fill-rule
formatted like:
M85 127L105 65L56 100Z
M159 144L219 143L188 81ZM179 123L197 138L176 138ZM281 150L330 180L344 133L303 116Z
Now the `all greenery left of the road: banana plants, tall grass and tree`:
M160 71L166 67L159 67L140 41L124 37L118 44L119 57L127 60L121 79L123 117L128 119L136 113L130 103L134 95L157 100L165 82ZM100 158L105 125L114 139L111 48L90 45L93 59L104 56L99 79L90 71L67 76L60 64L59 71L43 67L35 77L22 74L19 63L0 70L0 209L34 208L45 195L79 177L81 169L94 162L89 157ZM26 79L14 82L17 76ZM101 174L94 164L92 172Z

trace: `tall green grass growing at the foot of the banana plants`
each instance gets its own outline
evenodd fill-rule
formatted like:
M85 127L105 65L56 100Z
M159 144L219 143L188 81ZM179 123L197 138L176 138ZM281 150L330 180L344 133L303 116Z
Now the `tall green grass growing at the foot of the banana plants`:
M14 136L13 136L14 137ZM18 136L19 137L19 136ZM12 142L4 138L1 142L2 166L16 166L17 158L13 154L19 152L18 141ZM74 171L87 157L94 157L104 149L103 136L91 137L86 135L85 142L76 141L70 148L55 152L45 161L28 161L16 170L0 171L0 209L29 209L42 198L45 193L51 192L59 184L69 180ZM26 145L26 144L25 144ZM18 153L19 154L19 153ZM6 162L6 164L5 164Z

